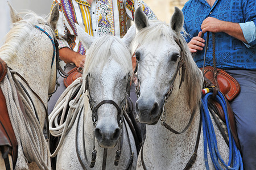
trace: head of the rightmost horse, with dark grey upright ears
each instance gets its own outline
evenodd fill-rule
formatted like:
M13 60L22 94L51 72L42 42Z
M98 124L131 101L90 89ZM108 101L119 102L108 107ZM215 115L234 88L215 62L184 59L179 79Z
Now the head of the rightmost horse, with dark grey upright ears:
M188 57L191 54L180 34L183 22L183 13L177 7L170 25L148 20L141 8L135 11L135 25L139 32L134 47L140 94L135 111L139 122L156 124L167 98L175 99L184 79L185 83L190 79L187 72L191 66L189 69L185 67L187 62L192 63L192 57ZM193 67L196 67L195 63Z

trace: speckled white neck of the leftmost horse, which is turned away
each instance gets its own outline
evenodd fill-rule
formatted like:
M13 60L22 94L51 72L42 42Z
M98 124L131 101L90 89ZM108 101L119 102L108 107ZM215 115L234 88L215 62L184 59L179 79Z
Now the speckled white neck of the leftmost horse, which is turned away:
M43 27L48 33L51 32L49 28ZM52 36L52 35L51 35ZM14 49L15 50L15 49ZM34 28L30 36L27 37L20 48L16 49L16 56L7 61L7 65L23 76L28 82L33 91L43 100L45 106L48 101L48 89L51 72L55 70L56 66L51 68L51 61L53 56L53 47L49 38L37 28ZM56 74L55 74L56 75ZM18 76L16 76L20 82L23 82ZM28 90L25 83L22 83ZM32 101L35 104L36 111L38 112L40 124L43 127L45 119L45 111L43 104L40 103L38 98L28 90Z

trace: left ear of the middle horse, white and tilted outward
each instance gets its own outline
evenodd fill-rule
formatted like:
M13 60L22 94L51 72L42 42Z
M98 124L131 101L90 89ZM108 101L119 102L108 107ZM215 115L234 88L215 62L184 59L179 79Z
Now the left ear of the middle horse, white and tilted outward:
M82 29L82 27L79 26L79 24L75 23L75 25L79 40L82 42L86 49L89 49L90 45L92 45L96 37L90 36L87 32L84 31L84 29Z

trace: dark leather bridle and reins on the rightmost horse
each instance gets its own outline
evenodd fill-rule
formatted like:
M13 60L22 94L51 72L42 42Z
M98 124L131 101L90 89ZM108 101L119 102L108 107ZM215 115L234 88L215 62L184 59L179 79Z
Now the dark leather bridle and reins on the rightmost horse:
M189 126L191 125L193 117L195 117L196 107L193 108L193 111L192 111L192 114L191 114L191 118L189 119L189 122L188 122L187 126L185 126L185 128L182 131L180 131L180 132L176 131L176 130L172 129L170 125L168 125L166 123L166 108L165 108L165 105L167 103L168 98L172 94L172 90L174 88L174 82L175 82L175 79L177 77L177 74L179 73L179 75L180 75L180 69L181 69L181 80L180 80L179 88L181 87L181 84L185 80L185 69L186 69L186 63L184 61L185 53L184 53L184 50L183 50L183 47L181 45L180 40L178 40L176 37L174 38L174 40L175 40L176 44L179 45L179 47L180 47L180 60L179 60L179 62L177 64L177 69L176 69L176 72L174 74L174 77L171 80L171 83L170 83L171 86L170 86L169 90L167 91L167 93L164 95L164 104L163 104L163 107L161 109L161 114L159 114L158 120L153 122L152 125L156 124L159 121L159 118L160 118L161 124L164 126L164 128L170 130L172 133L181 134L181 133L184 133L189 128ZM137 67L138 67L138 62L137 62ZM140 96L139 87L140 87L140 84L139 84L139 79L138 79L138 84L137 84L137 86L135 88L135 91L136 91L136 94L137 94L138 98ZM192 164L195 163L196 156L197 156L197 150L198 150L198 147L199 147L200 134L201 134L201 122L202 121L201 121L201 117L200 117L200 125L199 125L199 130L198 130L198 133L197 133L195 149L194 149L194 152L193 152L191 158L189 159L188 163L186 164L184 170L187 170L187 169L191 168ZM143 144L142 144L142 147L141 147L141 161L142 161L143 169L147 169L146 165L144 164L144 160L143 160Z

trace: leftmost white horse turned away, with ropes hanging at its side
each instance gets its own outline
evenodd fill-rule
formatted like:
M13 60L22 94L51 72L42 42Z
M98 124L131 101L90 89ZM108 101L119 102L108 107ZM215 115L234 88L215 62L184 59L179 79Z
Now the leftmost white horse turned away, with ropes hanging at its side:
M22 19L11 6L10 12L13 28L7 33L5 44L0 48L1 59L13 70L12 73L9 71L5 79L0 83L18 142L18 159L14 167L12 158L9 155L10 168L28 169L29 167L29 169L33 169L37 167L51 169L49 149L43 135L43 126L46 121L48 97L49 94L55 91L56 85L57 56L53 41L55 37L53 30L56 28L56 22L59 18L58 7L55 6L53 8L48 20L37 16L34 12L27 13ZM45 32L36 28L35 25ZM20 78L18 74L23 78ZM8 85L9 82L13 82L13 80L10 80L12 75L24 86L29 94L26 95L26 92L20 90L22 88L20 88L19 83L15 84L17 92L23 101L25 113L20 109L19 102L16 103L18 98L16 98L17 92L14 84ZM8 87L8 90L6 87ZM14 87L14 91L10 91L9 87ZM29 98L28 96L31 97L31 100L26 100ZM18 105L14 107L14 105L9 105L10 103ZM34 103L34 107L32 107L32 103ZM38 118L36 118L35 111ZM36 136L32 136L32 134L36 134ZM0 154L0 169L6 169L2 154ZM27 163L30 164L27 165Z

